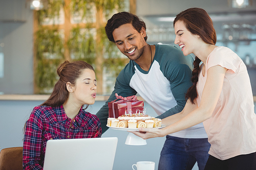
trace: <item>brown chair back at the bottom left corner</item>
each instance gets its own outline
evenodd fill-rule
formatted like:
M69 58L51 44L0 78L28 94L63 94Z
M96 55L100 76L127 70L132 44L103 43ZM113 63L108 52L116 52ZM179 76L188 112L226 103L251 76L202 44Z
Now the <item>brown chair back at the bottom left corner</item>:
M0 170L22 170L23 147L5 148L0 152Z

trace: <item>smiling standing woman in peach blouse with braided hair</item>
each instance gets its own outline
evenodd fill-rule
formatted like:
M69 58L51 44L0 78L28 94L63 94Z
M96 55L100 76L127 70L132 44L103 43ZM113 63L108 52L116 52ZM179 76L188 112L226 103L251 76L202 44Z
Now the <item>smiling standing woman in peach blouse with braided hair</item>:
M256 115L245 64L229 48L215 45L216 32L205 10L179 13L174 28L183 54L196 56L187 103L162 120L166 128L133 133L144 139L163 137L203 122L211 144L205 169L256 169Z

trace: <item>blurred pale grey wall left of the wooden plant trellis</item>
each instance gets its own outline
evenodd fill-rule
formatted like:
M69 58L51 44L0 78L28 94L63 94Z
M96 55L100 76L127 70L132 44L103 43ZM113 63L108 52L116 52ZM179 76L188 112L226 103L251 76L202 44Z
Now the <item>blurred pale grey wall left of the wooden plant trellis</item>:
M0 11L5 11L0 12L0 53L4 53L0 93L33 94L33 11L25 8L25 2L0 0Z

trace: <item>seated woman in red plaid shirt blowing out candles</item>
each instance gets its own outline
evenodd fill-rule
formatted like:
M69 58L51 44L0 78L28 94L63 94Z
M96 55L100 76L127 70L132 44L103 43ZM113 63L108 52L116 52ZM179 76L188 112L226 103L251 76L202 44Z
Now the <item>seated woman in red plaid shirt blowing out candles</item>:
M36 106L27 120L23 169L42 169L47 140L101 137L98 117L85 111L96 97L93 67L84 61L65 61L57 74L50 98Z

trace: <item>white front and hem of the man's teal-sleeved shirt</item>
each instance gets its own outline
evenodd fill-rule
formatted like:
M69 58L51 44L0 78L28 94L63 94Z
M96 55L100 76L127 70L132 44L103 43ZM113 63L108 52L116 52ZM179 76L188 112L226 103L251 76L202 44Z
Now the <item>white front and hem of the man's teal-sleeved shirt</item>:
M152 80L155 81L152 83ZM140 72L135 65L135 74L130 81L130 86L136 89L158 115L177 105L172 90L170 90L169 80L161 72L160 64L157 61L154 61L148 74ZM180 138L207 138L203 123L169 135Z

